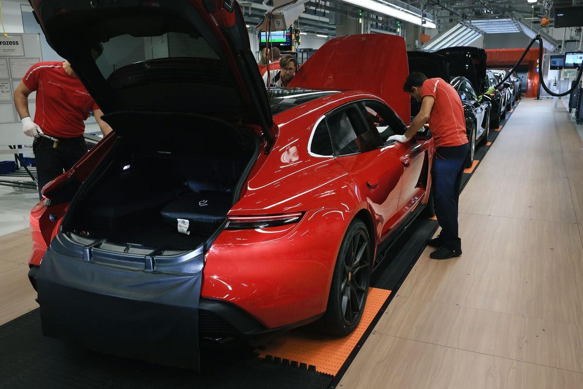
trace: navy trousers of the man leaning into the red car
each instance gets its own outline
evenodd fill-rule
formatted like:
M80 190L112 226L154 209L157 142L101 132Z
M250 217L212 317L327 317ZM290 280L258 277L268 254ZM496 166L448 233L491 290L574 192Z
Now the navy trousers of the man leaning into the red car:
M466 157L468 143L440 147L436 150L431 167L431 190L437 221L441 226L440 237L444 246L452 250L461 250L462 247L462 240L458 236L458 203Z

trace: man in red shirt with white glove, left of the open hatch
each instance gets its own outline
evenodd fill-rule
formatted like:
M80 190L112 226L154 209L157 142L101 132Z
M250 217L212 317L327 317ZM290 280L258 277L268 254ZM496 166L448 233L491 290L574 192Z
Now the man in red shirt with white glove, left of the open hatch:
M93 57L99 57L101 51L101 45L94 48ZM34 90L37 94L33 121L30 118L28 96ZM45 184L71 169L87 152L83 121L89 117L89 111L93 110L104 135L111 132L111 127L101 120L103 112L66 61L39 62L31 66L16 87L14 104L20 115L22 131L35 138L33 152L39 197ZM58 142L41 137L40 134L57 138Z

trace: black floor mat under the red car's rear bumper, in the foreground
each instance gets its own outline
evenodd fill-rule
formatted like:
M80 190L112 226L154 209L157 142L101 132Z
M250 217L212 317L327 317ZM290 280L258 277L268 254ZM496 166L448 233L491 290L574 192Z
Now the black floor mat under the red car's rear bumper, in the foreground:
M0 388L290 388L329 386L333 377L259 360L250 348L203 348L202 370L174 369L87 351L41 335L38 310L0 327Z

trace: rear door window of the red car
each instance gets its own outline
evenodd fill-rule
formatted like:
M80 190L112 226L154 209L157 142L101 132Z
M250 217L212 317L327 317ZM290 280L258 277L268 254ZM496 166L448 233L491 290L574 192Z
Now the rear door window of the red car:
M326 117L334 155L348 155L374 150L379 146L377 138L364 125L354 104L342 108Z

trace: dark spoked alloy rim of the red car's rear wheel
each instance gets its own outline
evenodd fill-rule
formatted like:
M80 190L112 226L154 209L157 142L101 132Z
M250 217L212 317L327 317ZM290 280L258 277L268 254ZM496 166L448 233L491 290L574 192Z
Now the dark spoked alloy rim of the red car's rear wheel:
M342 285L340 286L340 304L344 321L352 325L360 318L366 303L366 292L370 267L367 255L368 237L362 230L356 230L350 240L344 260Z

